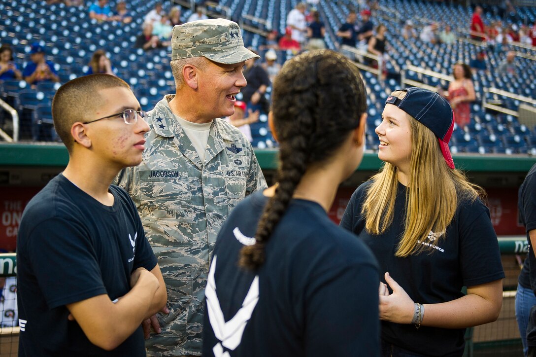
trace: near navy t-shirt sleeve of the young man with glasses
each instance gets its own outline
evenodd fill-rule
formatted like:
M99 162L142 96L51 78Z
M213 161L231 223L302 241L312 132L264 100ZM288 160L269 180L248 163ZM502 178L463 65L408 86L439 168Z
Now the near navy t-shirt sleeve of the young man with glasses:
M26 249L49 309L107 293L91 239L77 222L53 217L37 224Z

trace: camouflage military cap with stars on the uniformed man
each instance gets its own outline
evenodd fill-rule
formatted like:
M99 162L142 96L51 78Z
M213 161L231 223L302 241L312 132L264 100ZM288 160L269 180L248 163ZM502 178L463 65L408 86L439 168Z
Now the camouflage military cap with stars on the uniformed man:
M240 26L226 19L191 21L173 27L171 59L204 56L225 64L260 58L244 47Z

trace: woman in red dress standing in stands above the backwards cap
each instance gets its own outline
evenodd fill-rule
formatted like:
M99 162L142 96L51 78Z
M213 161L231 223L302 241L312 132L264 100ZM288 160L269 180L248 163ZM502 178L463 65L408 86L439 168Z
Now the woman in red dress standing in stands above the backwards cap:
M473 72L471 68L457 62L452 70L454 80L449 84L448 93L444 93L449 100L458 127L463 129L471 122L470 103L477 99L473 85Z

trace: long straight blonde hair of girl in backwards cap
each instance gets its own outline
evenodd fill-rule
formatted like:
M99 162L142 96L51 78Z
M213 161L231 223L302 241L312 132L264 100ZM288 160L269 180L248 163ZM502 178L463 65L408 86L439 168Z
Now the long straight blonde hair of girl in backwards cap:
M391 96L403 99L405 91ZM426 126L406 114L411 123L411 158L406 191L404 234L397 247L397 257L419 254L433 247L418 244L431 232L444 237L454 218L460 200L474 201L484 195L481 187L470 183L464 174L450 169L441 154L437 137ZM371 180L362 214L369 234L380 235L393 222L394 201L397 196L397 167L384 163ZM424 241L422 241L424 242Z

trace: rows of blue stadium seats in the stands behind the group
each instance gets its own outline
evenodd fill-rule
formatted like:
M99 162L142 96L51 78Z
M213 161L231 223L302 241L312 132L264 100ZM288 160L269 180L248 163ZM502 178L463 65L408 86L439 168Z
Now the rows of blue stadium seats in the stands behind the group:
M134 48L136 37L142 31L144 15L157 0L129 1L133 21L130 24L116 22L98 23L88 17L87 6L69 7L47 5L45 1L1 0L0 40L10 45L16 54L16 63L23 68L29 59L29 47L40 42L47 49L47 55L56 63L61 83L81 76L96 49L109 53L117 75L128 82L142 107L151 109L164 94L174 92L173 76L169 68L169 49L144 52ZM90 4L91 2L87 2ZM164 2L169 10L171 2ZM296 0L220 0L219 5L209 10L213 13L228 14L244 27L254 27L258 31L243 31L246 46L256 49L265 44L262 32L276 30L284 33L287 13L294 8ZM433 87L446 88L448 81L422 72L406 70L413 65L425 70L450 75L452 65L458 61L469 63L482 49L486 50L487 72L478 72L473 81L477 100L471 106L471 125L456 128L451 140L453 152L530 154L536 155L536 130L533 126L519 123L517 116L490 110L483 103L495 103L502 108L518 111L520 101L502 94L489 92L496 88L518 96L536 98L536 48L516 48L516 66L519 75L498 75L494 70L504 59L504 53L497 53L485 45L472 41L456 41L451 45L431 45L418 39L405 40L399 31L406 20L412 20L416 27L437 21L451 24L453 30L466 31L472 10L458 4L438 4L415 0L381 0L380 9L375 11L375 25L387 26L390 60L386 63L388 72L385 80L369 71L362 71L368 91L368 131L367 147L375 150L378 139L374 128L381 120L381 112L388 93L400 88L400 71L405 71L407 79ZM110 1L112 8L115 2ZM327 47L338 48L337 29L346 18L355 1L320 0L318 10L326 24L325 41ZM229 10L224 12L223 9ZM392 12L389 9L396 9ZM486 7L484 20L497 19L497 9ZM536 8L520 7L518 23L533 24ZM191 10L183 8L182 19L188 18ZM244 17L249 15L249 17ZM251 18L263 19L262 21ZM247 25L247 26L245 26ZM264 56L265 50L259 50ZM294 54L278 51L278 62L284 63ZM21 123L21 139L56 140L51 125L50 104L59 84L42 84L29 88L25 82L5 81L0 83L0 96L17 109ZM270 90L266 94L270 96ZM239 98L240 99L240 98ZM2 117L0 116L0 123ZM266 123L267 115L262 113L260 121L251 125L253 144L257 148L274 147L276 143ZM329 120L329 118L326 118ZM536 118L534 118L536 121Z

